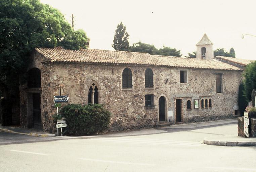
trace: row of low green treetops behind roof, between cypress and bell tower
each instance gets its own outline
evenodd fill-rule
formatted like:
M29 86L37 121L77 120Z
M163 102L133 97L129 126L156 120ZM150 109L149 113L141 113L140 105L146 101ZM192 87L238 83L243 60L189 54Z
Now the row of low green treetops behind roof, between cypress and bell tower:
M132 52L145 52L152 55L165 55L165 56L176 56L180 57L182 54L180 54L180 50L177 50L175 48L165 47L157 49L154 45L137 42L132 44L132 46L129 47L129 51Z

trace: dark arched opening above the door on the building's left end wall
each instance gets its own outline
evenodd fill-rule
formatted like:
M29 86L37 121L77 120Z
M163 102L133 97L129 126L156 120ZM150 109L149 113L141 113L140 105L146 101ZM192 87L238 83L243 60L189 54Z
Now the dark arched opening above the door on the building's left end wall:
M28 88L41 87L41 71L37 68L29 70Z

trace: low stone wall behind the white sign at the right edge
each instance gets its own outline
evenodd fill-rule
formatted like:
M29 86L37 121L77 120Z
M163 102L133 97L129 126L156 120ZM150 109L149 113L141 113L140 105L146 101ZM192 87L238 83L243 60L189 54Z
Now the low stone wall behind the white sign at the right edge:
M238 136L245 137L244 133L244 117L238 119ZM256 118L250 118L250 137L256 137Z

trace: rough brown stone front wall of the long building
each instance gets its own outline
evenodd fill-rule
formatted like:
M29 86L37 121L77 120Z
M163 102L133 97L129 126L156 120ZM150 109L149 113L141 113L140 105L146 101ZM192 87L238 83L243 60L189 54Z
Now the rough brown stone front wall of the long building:
M99 89L99 103L112 113L110 131L154 127L159 121L158 101L166 99L165 120L176 123L175 99L182 99L182 123L218 120L233 117L237 106L238 87L241 82L239 71L215 71L203 69L164 68L137 65L106 65L82 63L41 63L36 53L32 66L41 70L41 112L43 130L53 132L52 115L56 113L53 96L69 96L69 103L88 103L88 90L94 82ZM122 71L130 68L133 74L133 88L122 89ZM154 88L145 88L144 73L151 68L154 73ZM180 83L180 70L187 71L187 83ZM216 73L223 74L222 93L216 93ZM21 87L26 88L26 85ZM145 109L145 95L154 94L155 109ZM27 98L21 91L21 105ZM212 99L212 107L194 109L194 99ZM186 101L191 101L191 110ZM62 103L64 105L65 103ZM21 108L22 109L22 108ZM26 127L26 108L21 110L22 126ZM172 111L173 116L168 116ZM25 120L24 120L25 119Z

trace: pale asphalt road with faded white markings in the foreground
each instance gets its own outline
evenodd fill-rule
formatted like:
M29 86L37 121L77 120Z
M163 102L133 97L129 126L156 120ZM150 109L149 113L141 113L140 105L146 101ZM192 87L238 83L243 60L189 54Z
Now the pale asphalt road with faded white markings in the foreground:
M217 123L132 131L123 136L112 133L103 137L43 138L46 140L28 143L19 140L18 144L0 146L0 169L3 172L256 172L256 147L201 143L204 137L236 133L237 124ZM0 139L3 137L8 138L0 133Z

